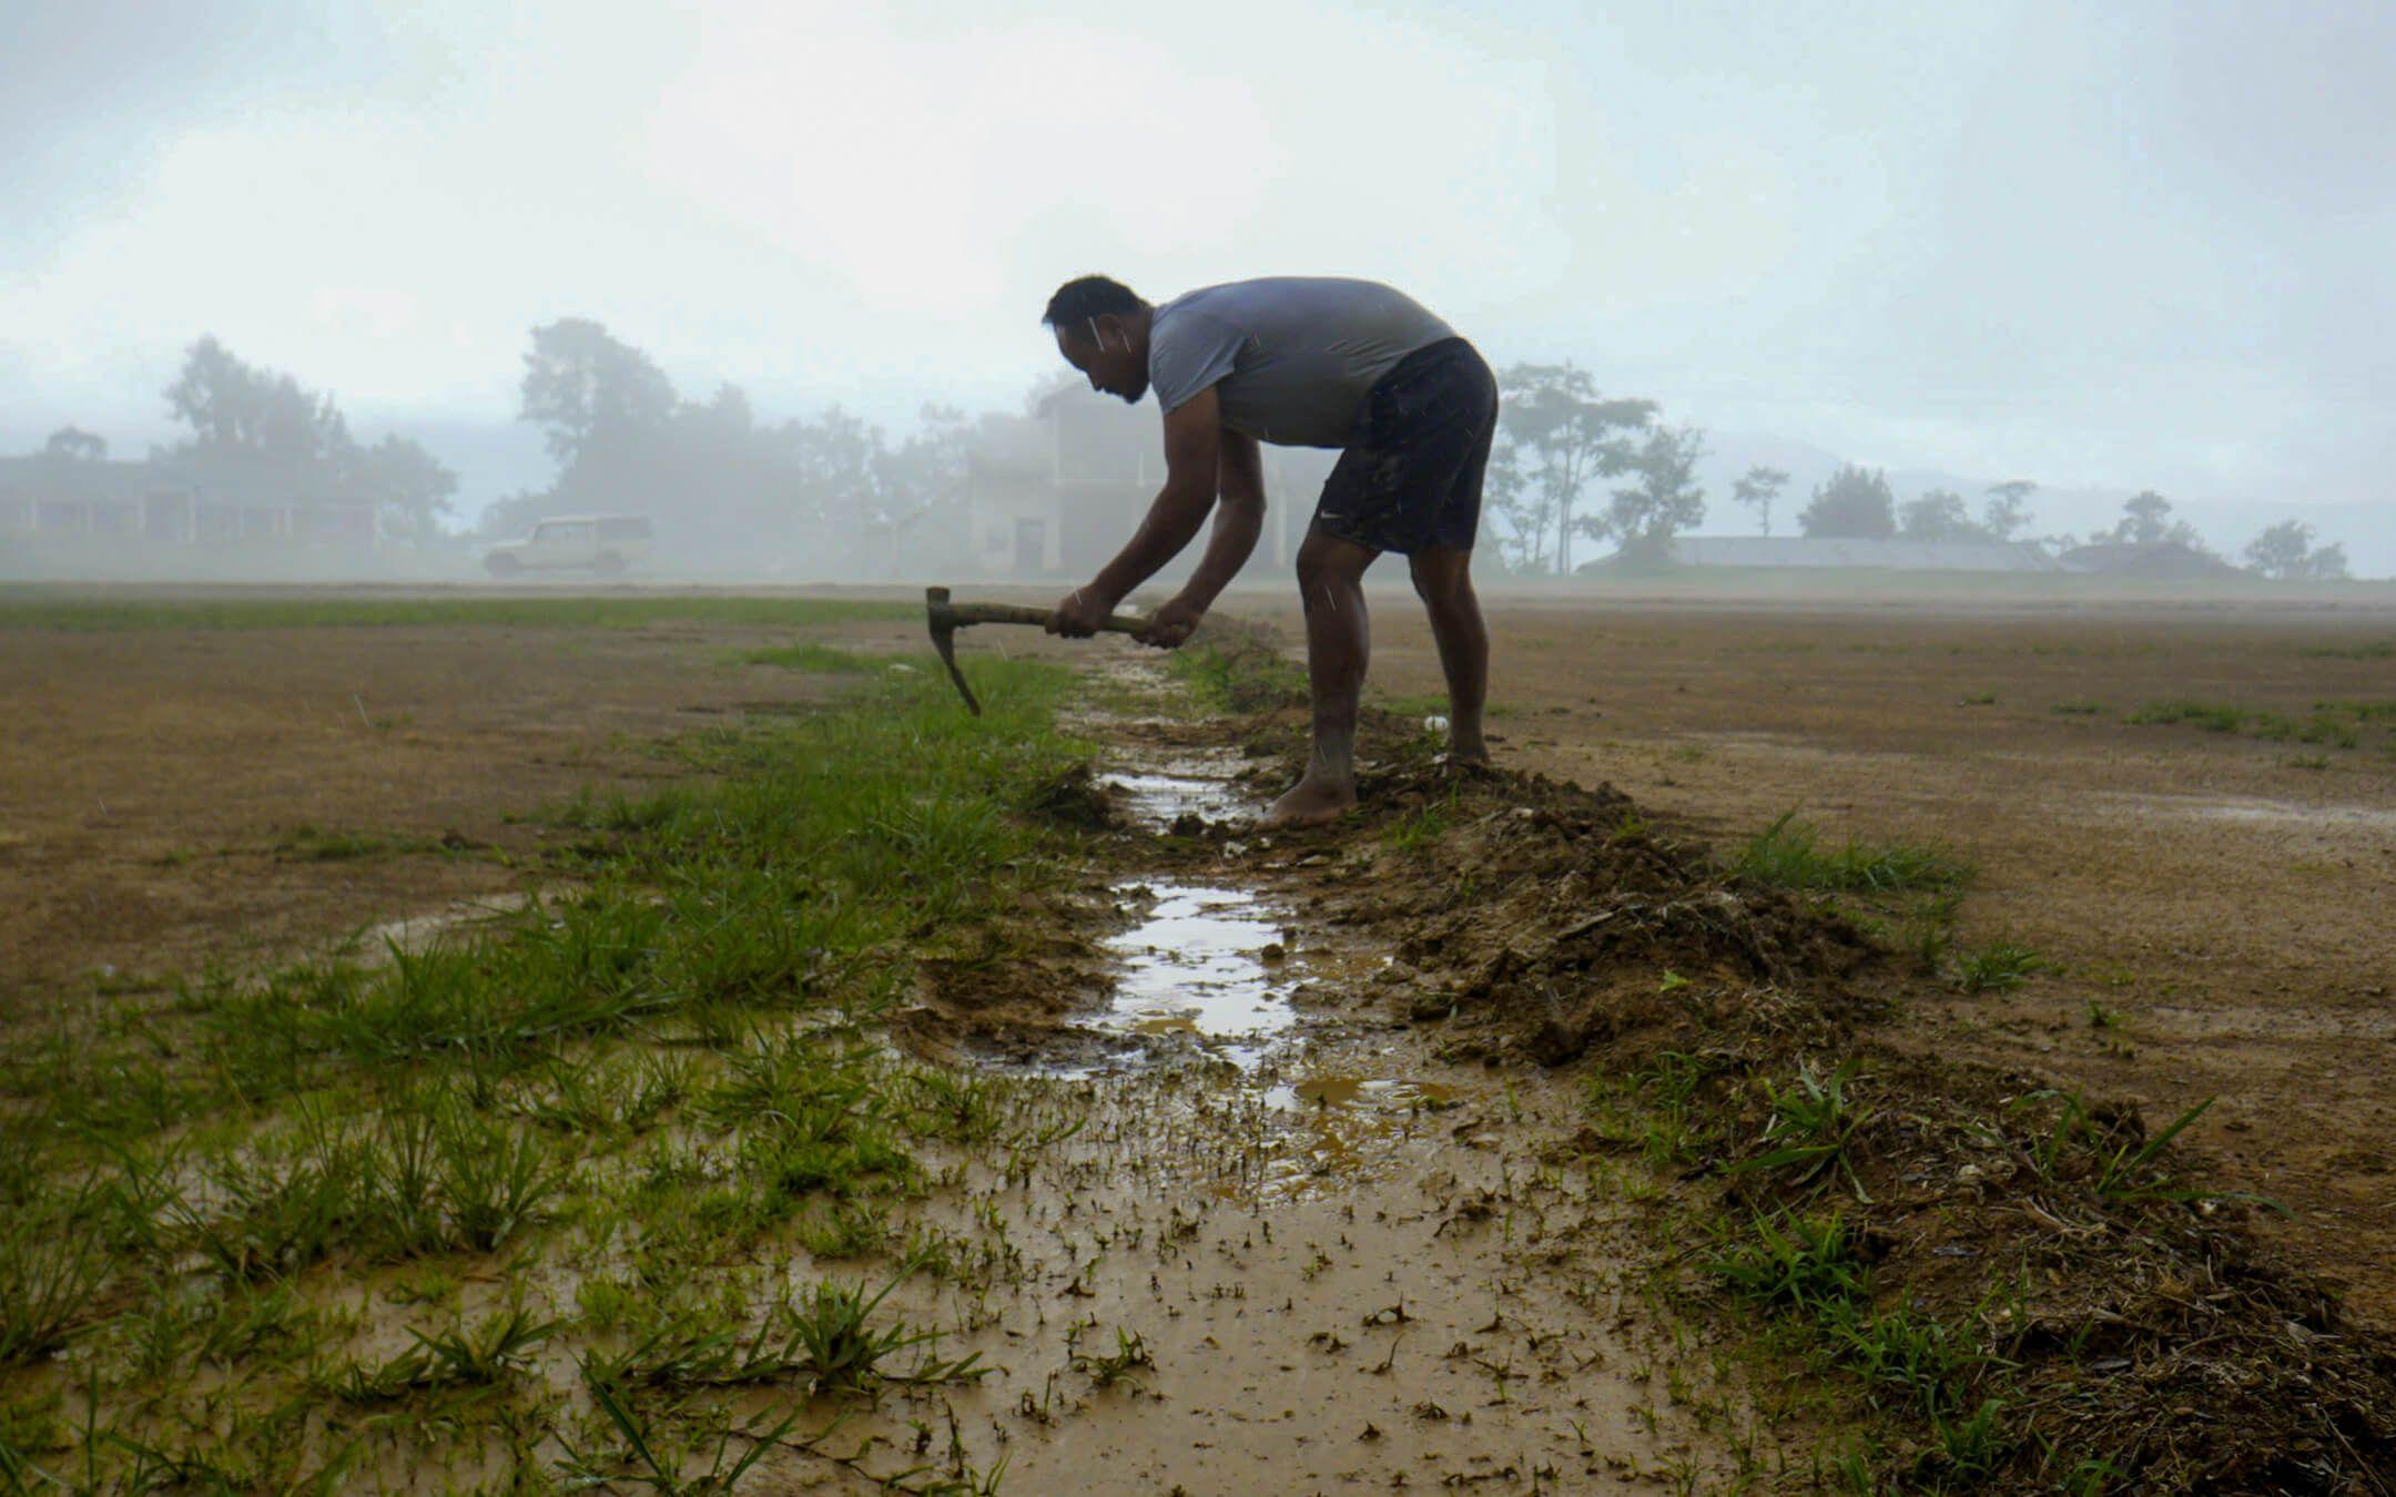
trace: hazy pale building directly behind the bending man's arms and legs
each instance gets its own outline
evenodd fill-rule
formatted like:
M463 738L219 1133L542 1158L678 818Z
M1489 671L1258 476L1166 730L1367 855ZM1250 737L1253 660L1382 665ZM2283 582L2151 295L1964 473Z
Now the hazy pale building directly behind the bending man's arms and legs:
M1258 553L1289 563L1339 453L1263 448ZM1155 407L1064 386L1030 417L985 419L966 457L973 563L985 577L1081 577L1112 558L1164 484ZM1205 537L1176 572L1196 565Z

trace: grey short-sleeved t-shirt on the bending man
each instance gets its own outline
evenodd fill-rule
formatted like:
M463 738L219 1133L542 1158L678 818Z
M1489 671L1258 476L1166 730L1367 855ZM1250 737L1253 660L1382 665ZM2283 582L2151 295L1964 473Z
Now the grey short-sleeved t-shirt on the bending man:
M1363 393L1454 328L1375 280L1270 275L1157 307L1148 383L1164 410L1208 386L1222 424L1284 448L1344 448Z

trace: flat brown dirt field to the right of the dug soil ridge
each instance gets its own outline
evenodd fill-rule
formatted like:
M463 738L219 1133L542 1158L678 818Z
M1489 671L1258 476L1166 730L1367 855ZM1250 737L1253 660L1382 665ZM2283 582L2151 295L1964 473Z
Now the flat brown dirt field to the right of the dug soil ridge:
M1373 675L1435 692L1406 613L1380 608ZM2192 1138L2288 1205L2283 1246L2396 1317L2396 733L2125 721L2171 699L2384 707L2396 613L1500 604L1493 632L1512 762L1725 843L1802 807L1967 855L1960 939L2010 934L2058 970L1922 1008L1912 1042L2164 1116L2219 1097Z

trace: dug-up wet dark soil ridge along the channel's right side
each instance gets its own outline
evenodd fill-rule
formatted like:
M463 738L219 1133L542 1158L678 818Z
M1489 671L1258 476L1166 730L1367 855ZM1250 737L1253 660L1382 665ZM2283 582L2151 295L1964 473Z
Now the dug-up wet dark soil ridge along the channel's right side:
M1878 1478L2386 1490L2396 1339L2257 1241L2276 1207L2209 1190L2185 1119L1905 1056L1876 1018L1931 980L1838 913L1613 788L1373 728L1356 814L1263 853L1284 898L1385 941L1380 1001L1447 1056L1579 1066L1579 1147L1689 1181L1682 1284L1850 1370ZM1294 769L1287 707L1241 738L1282 754L1258 788Z

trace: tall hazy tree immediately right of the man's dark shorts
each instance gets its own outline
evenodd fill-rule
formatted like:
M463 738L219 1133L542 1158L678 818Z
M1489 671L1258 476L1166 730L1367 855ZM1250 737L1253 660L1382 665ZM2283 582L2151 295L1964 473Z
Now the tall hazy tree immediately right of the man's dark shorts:
M1498 441L1490 455L1493 513L1524 570L1572 570L1572 537L1586 534L1579 505L1596 479L1634 460L1632 434L1656 417L1653 400L1608 400L1586 369L1514 364L1498 378Z

